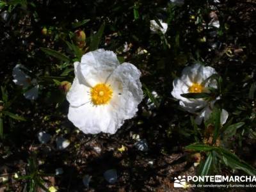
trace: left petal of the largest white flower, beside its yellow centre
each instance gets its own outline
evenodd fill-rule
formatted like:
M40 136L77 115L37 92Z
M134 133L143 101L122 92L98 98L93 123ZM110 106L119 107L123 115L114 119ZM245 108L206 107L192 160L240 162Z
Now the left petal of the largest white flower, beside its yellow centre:
M74 78L72 86L67 93L67 100L70 106L79 107L90 102L90 88L81 84L77 77Z

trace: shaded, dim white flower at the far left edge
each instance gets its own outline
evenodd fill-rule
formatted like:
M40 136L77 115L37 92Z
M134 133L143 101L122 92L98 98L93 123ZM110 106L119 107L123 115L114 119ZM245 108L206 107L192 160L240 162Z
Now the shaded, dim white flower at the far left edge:
M33 86L23 95L26 99L35 100L38 97L39 85L37 84L36 79L31 79L31 77L28 76L24 72L24 70L29 71L26 67L20 64L16 65L13 68L12 70L13 82L19 86L22 86L22 88L24 89Z

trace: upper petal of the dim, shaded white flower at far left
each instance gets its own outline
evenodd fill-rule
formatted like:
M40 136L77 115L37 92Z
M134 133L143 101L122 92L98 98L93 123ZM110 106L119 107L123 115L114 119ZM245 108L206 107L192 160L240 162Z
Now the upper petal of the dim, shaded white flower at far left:
M23 86L24 88L30 85L29 80L31 79L27 74L22 71L22 65L16 65L12 70L13 82L17 85Z

